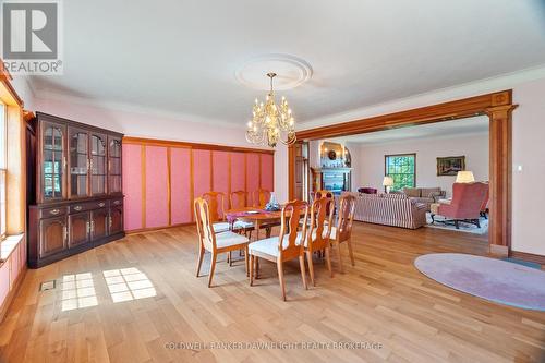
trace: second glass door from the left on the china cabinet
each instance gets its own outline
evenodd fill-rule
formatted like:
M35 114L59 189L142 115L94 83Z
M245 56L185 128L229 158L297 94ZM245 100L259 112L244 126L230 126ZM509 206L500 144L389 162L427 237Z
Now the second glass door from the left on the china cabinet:
M70 129L70 196L85 197L88 192L88 133Z

